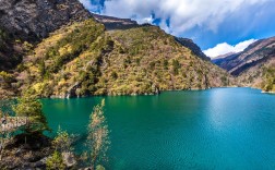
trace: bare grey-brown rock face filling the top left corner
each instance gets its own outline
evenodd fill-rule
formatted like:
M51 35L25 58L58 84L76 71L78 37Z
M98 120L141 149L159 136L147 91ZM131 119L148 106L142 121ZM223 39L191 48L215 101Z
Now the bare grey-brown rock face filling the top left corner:
M0 26L24 40L36 41L72 20L89 16L77 0L0 1Z

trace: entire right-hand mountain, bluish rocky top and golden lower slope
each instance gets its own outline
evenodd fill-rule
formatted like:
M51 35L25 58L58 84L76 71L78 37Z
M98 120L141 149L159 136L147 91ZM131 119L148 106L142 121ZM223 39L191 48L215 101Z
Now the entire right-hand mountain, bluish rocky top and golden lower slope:
M246 86L275 92L275 37L258 40L242 52L217 58L213 62L238 76Z

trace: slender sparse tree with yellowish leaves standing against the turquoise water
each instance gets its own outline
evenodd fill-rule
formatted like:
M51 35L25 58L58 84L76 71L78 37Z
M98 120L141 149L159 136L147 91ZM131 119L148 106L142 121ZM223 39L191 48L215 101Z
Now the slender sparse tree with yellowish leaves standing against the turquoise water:
M89 161L92 169L96 168L98 161L106 158L106 153L108 150L109 141L109 130L104 117L105 100L101 100L100 105L94 107L92 114L89 116L88 123L88 136L87 145L89 147Z

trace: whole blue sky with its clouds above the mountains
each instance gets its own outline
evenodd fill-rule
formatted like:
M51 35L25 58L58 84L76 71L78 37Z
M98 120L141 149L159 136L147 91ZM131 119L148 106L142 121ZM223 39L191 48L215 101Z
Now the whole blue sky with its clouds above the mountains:
M89 11L159 25L208 56L275 36L275 0L80 0Z

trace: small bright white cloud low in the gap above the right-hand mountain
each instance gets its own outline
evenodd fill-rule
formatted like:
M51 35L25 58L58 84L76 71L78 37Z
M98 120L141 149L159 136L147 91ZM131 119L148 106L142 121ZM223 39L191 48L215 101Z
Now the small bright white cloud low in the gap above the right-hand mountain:
M249 45L256 41L256 39L249 39L241 41L235 46L228 45L227 42L218 44L217 46L203 51L206 56L211 58L218 57L220 54L226 54L229 52L240 52L243 51Z

